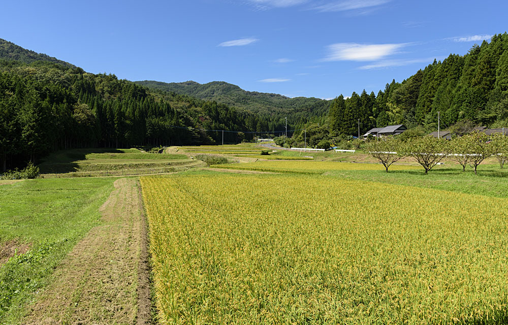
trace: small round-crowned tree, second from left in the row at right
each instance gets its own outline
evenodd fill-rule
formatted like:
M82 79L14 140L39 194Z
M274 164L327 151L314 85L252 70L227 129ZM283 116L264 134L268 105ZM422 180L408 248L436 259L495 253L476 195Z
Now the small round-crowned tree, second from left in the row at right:
M437 139L432 136L423 138L409 139L402 147L401 151L407 156L411 156L422 165L427 174L450 152L448 140Z

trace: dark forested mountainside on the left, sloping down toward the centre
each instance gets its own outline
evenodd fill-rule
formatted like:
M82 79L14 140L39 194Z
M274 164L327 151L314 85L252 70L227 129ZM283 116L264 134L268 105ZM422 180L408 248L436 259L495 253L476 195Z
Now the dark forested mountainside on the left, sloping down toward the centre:
M112 74L86 73L7 45L0 56L0 171L61 148L211 144L221 139L220 132L205 130L225 130L226 142L239 142L255 136L252 132L284 127L283 118L150 91Z

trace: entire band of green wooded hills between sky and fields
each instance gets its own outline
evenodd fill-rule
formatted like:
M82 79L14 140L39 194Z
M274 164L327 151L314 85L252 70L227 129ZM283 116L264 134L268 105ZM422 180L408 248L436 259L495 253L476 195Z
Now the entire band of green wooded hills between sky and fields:
M169 85L169 86L168 86ZM213 89L213 91L210 91ZM385 89L333 101L247 92L225 82L165 84L91 74L0 39L0 171L76 147L194 145L280 135L314 140L405 124L425 132L508 123L508 35L450 54ZM359 122L358 122L359 120ZM295 130L295 131L292 131Z

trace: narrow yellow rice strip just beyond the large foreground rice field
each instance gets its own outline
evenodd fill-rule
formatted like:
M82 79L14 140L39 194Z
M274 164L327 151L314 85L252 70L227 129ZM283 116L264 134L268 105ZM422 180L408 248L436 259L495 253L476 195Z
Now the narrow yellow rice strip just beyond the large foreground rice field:
M323 174L338 170L385 170L381 164L353 164L338 161L257 161L247 164L214 165L214 168L276 173ZM392 165L393 170L420 170L420 166Z

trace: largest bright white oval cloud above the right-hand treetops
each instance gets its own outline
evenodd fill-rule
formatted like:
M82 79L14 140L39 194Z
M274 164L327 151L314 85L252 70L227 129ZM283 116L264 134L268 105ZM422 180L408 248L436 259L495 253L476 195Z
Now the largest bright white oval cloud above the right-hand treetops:
M406 45L337 43L328 46L328 55L323 61L375 61L397 53Z

